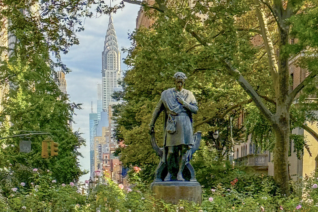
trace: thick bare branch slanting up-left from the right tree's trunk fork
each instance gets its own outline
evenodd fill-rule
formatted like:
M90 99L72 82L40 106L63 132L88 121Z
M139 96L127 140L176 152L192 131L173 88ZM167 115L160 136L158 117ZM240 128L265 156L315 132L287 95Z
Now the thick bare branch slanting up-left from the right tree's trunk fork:
M271 123L274 124L275 120L273 118L273 113L264 105L262 100L260 99L257 92L252 88L252 86L244 79L241 73L232 67L229 62L225 62L225 67L229 71L230 75L233 76L236 81L238 81L239 85L245 90L245 92L251 97L251 99L255 102L255 105L259 109L259 111L266 117L266 119Z

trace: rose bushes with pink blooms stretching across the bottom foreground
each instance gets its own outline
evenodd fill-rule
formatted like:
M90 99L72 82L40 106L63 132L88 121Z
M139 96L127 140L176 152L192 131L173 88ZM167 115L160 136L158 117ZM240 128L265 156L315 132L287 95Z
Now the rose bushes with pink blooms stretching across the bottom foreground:
M172 205L156 201L149 187L142 183L139 173L131 173L130 190L121 189L109 178L100 177L86 195L71 185L52 182L52 173L46 170L31 171L33 185L6 186L7 204L0 202L0 211L122 211L122 212L259 212L259 211L316 211L318 202L317 175L306 176L293 182L293 193L289 197L280 195L273 181L267 177L250 178L251 182L242 189L241 180L235 185L203 189L202 204L181 200ZM256 180L256 181L255 181ZM225 181L224 181L225 182ZM225 182L226 183L226 182ZM296 209L300 207L301 209Z

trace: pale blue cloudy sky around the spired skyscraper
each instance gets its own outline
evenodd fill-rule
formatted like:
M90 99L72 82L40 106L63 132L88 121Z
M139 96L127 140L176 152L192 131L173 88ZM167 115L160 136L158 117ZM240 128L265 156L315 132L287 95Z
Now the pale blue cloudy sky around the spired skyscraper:
M117 1L119 2L119 1ZM116 2L112 2L114 5ZM135 30L136 17L139 5L125 3L122 10L113 14L113 23L117 35L118 46L121 49L129 48L131 43L128 33ZM77 34L79 45L72 46L66 55L62 55L62 61L72 72L66 74L67 94L70 101L82 103L82 110L76 111L74 116L73 131L79 130L86 140L86 147L79 151L84 158L79 158L81 169L89 169L89 113L93 101L93 112L97 112L97 83L101 83L101 52L103 51L105 35L108 27L108 15L86 18L85 30ZM121 51L121 58L126 57ZM121 69L127 70L127 66L121 60ZM89 179L89 174L83 175L80 181Z

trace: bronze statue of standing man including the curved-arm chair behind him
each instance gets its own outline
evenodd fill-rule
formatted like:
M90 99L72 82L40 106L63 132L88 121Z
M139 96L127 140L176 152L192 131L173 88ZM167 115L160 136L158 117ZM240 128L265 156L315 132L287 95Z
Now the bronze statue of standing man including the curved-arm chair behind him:
M161 156L156 169L155 181L162 181L162 173L167 169L164 181L185 181L183 170L190 171L190 181L196 181L194 170L189 163L192 154L198 149L201 132L193 134L192 113L197 113L197 101L191 91L183 88L187 77L182 72L174 74L175 88L161 93L160 101L152 115L150 126L151 143ZM164 111L163 148L156 144L154 126L159 114Z

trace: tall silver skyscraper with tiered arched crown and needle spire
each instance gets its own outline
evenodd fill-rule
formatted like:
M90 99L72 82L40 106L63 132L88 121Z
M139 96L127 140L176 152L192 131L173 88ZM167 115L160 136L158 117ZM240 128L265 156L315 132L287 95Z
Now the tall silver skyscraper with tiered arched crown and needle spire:
M116 32L113 24L112 14L109 15L108 29L105 36L104 51L101 53L102 58L102 104L103 111L108 110L108 106L112 99L114 91L119 91L117 80L121 77L120 68L120 51Z

